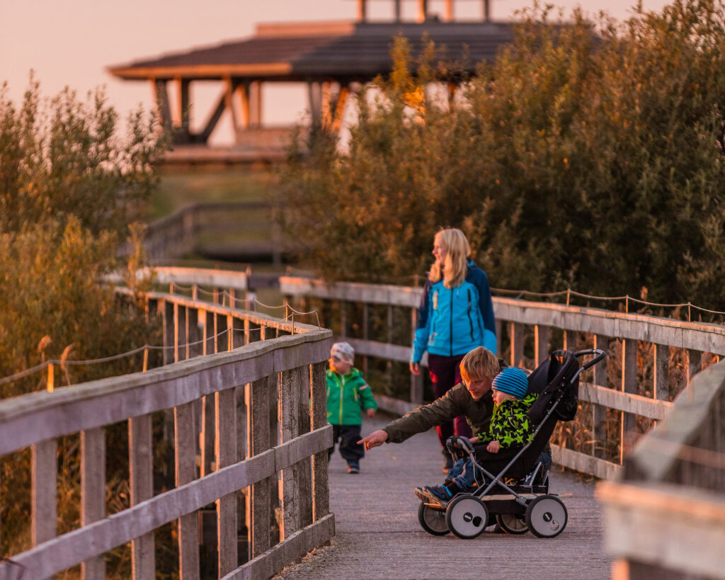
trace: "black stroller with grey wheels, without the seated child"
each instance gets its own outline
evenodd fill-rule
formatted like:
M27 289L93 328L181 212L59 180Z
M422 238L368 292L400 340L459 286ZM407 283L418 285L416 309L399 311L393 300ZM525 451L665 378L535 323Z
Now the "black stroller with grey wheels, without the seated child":
M578 358L587 355L595 357L580 367ZM481 460L468 438L451 437L448 450L455 459L471 457L479 484L472 492L456 494L448 501L431 497L421 502L418 521L423 529L434 536L452 531L457 537L471 539L497 523L509 534L531 530L541 538L558 536L566 527L566 506L549 493L548 474L539 455L557 421L571 421L576 416L579 373L604 357L600 349L556 350L529 375L528 392L539 397L529 409L536 426L534 436L524 447Z

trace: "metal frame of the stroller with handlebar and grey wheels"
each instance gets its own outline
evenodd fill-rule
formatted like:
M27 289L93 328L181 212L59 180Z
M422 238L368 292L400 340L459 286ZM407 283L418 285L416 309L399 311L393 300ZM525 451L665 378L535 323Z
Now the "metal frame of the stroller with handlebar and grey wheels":
M525 534L530 530L537 537L555 537L564 530L568 520L566 506L558 495L549 494L549 479L544 465L536 460L533 467L524 467L525 463L520 460L527 451L538 450L536 457L540 455L559 421L555 413L563 399L568 396L566 389L578 388L579 374L606 356L600 349L585 349L578 352L555 351L550 355L550 360L556 357L562 361L563 368L567 364L564 362L565 358L576 360L587 355L595 357L581 365L573 376L568 378L568 385L562 382L554 389L550 389L552 383L544 385L542 394L555 393L552 402L546 403L548 408L537 422L531 441L518 449L515 455L506 461L505 467L495 470L498 472L497 475L481 465L482 462L476 458L476 450L468 438L460 436L449 438L447 449L454 457L462 458L468 455L471 458L477 486L472 492L455 494L447 501L429 497L421 502L418 508L418 521L423 529L436 536L452 531L457 537L471 539L483 533L486 526L494 523L492 518L495 518L495 523L509 534ZM568 364L573 363L568 362ZM576 401L576 395L574 397ZM571 415L571 410L565 410L564 413L565 416ZM573 413L576 414L576 407ZM571 418L573 415L567 420ZM518 476L507 477L508 471L517 462L519 462ZM486 481L489 481L488 484L479 484L481 474L485 476Z

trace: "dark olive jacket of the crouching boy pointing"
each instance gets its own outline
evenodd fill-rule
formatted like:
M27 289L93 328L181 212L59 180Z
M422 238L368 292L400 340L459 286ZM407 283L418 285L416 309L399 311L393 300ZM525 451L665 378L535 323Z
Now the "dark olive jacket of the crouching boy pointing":
M458 415L465 415L473 433L487 433L493 410L494 399L490 391L479 401L474 401L464 384L459 383L443 397L391 421L383 431L388 434L390 443L402 443L416 433L423 433L431 427L452 421Z

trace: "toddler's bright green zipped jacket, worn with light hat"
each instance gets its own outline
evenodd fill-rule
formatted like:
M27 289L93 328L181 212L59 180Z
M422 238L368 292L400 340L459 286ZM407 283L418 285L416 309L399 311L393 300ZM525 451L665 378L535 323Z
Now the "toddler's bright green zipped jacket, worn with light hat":
M377 409L370 385L363 373L351 368L342 376L334 370L327 371L327 421L333 425L360 425L362 409Z

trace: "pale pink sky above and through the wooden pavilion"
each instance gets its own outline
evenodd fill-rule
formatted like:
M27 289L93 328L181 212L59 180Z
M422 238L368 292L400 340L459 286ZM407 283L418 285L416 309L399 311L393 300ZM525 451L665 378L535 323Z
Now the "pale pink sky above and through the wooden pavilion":
M635 0L558 0L565 10L575 5L590 14L605 8L624 20ZM492 20L511 20L515 10L533 0L490 0ZM403 0L402 17L413 20L415 0ZM643 0L647 10L660 10L666 0ZM146 82L122 81L106 70L146 57L210 46L221 41L252 36L260 22L354 20L355 0L0 0L0 85L8 83L16 103L28 87L32 69L43 96L53 96L65 86L84 96L105 86L110 104L125 117L141 104L152 107ZM390 20L392 1L369 0L370 20ZM442 13L442 0L428 0L429 11ZM457 20L479 20L480 0L456 0ZM207 116L220 86L192 84L192 129ZM262 123L289 124L301 119L305 93L301 86L263 89ZM206 104L206 103L209 104ZM199 118L196 118L199 117ZM228 134L231 136L231 125ZM217 133L223 133L223 127ZM216 137L223 144L223 136Z

